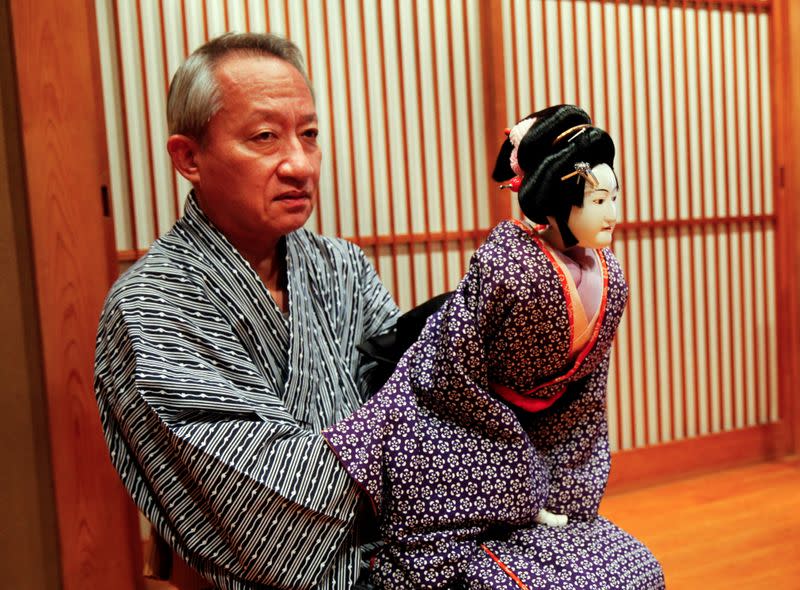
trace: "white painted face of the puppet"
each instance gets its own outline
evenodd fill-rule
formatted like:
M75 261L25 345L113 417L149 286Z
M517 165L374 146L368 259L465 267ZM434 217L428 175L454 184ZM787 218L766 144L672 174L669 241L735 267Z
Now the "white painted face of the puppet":
M592 168L597 186L586 181L583 207L572 207L567 225L578 246L583 248L607 248L611 245L614 226L617 223L617 177L608 164Z

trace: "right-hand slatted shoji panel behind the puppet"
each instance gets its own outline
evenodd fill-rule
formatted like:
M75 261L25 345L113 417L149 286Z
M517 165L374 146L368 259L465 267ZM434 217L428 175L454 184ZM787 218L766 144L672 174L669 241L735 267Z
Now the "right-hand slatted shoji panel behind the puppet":
M778 419L768 2L507 0L508 113L617 143L617 449Z

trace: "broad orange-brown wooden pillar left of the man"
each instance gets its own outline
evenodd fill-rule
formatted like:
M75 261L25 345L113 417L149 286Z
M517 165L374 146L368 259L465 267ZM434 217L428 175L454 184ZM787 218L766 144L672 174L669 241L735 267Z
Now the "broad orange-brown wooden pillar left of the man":
M16 92L9 94L21 131L16 155L26 211L15 224L29 237L35 285L35 299L25 302L35 315L26 335L36 342L49 431L46 496L57 550L46 559L60 572L60 584L50 576L39 588L133 590L143 585L136 513L111 466L92 387L114 249L101 196L107 162L94 3L0 2L11 29L4 58L13 55Z

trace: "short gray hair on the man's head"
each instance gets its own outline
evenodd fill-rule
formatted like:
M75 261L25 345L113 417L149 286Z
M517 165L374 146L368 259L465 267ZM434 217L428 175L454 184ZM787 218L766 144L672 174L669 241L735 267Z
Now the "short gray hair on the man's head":
M303 54L288 39L272 33L225 33L195 50L172 77L167 98L170 135L187 135L197 141L203 140L208 122L222 106L214 69L231 54L282 59L303 75L311 90L303 66Z

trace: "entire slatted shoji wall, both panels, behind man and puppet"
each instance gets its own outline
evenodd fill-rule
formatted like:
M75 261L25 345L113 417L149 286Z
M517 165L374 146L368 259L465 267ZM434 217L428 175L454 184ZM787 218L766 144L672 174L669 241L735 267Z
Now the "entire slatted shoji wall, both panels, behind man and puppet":
M172 224L188 190L163 147L172 72L207 38L270 30L303 49L316 92L311 227L360 243L405 309L454 287L498 221L484 133L497 105L483 97L499 76L481 66L491 52L502 125L572 102L617 142L614 249L631 300L609 382L614 448L779 419L770 2L96 4L121 259ZM480 22L493 12L500 26Z

